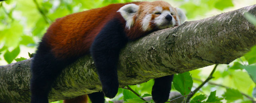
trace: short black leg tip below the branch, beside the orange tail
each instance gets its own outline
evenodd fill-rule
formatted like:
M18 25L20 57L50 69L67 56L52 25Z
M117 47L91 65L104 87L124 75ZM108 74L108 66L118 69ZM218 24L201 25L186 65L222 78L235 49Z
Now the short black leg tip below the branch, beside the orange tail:
M92 103L105 103L104 93L103 92L95 92L88 94Z

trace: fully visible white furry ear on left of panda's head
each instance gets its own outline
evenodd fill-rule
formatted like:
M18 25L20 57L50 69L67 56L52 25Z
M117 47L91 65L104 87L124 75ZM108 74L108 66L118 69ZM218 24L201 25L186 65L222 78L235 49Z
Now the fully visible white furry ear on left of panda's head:
M134 24L134 15L138 12L140 6L136 4L127 4L123 7L121 7L117 12L120 12L122 17L126 21L126 27L130 29L132 25Z

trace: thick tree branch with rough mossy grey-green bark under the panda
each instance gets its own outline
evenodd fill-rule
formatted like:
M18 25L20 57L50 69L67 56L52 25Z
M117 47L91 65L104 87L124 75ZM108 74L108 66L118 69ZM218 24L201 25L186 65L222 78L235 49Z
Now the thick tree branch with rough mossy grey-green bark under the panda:
M222 13L175 28L153 32L129 42L118 63L120 87L215 63L228 64L256 44L256 27L243 16L256 14L256 5ZM32 59L0 67L0 103L30 101ZM101 90L90 55L67 67L57 78L49 101Z

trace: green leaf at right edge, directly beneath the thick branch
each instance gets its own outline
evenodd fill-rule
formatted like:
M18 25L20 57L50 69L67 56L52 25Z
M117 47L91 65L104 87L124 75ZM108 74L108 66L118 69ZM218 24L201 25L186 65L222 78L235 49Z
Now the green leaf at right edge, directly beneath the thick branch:
M248 61L248 64L256 63L256 46L253 46L251 50L244 55L245 59Z

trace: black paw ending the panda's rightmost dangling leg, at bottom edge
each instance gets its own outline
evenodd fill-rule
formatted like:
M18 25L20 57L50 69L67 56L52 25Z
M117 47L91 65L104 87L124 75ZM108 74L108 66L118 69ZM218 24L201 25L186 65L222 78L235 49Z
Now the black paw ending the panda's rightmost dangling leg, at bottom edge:
M152 90L152 98L156 103L165 103L169 99L168 91Z

